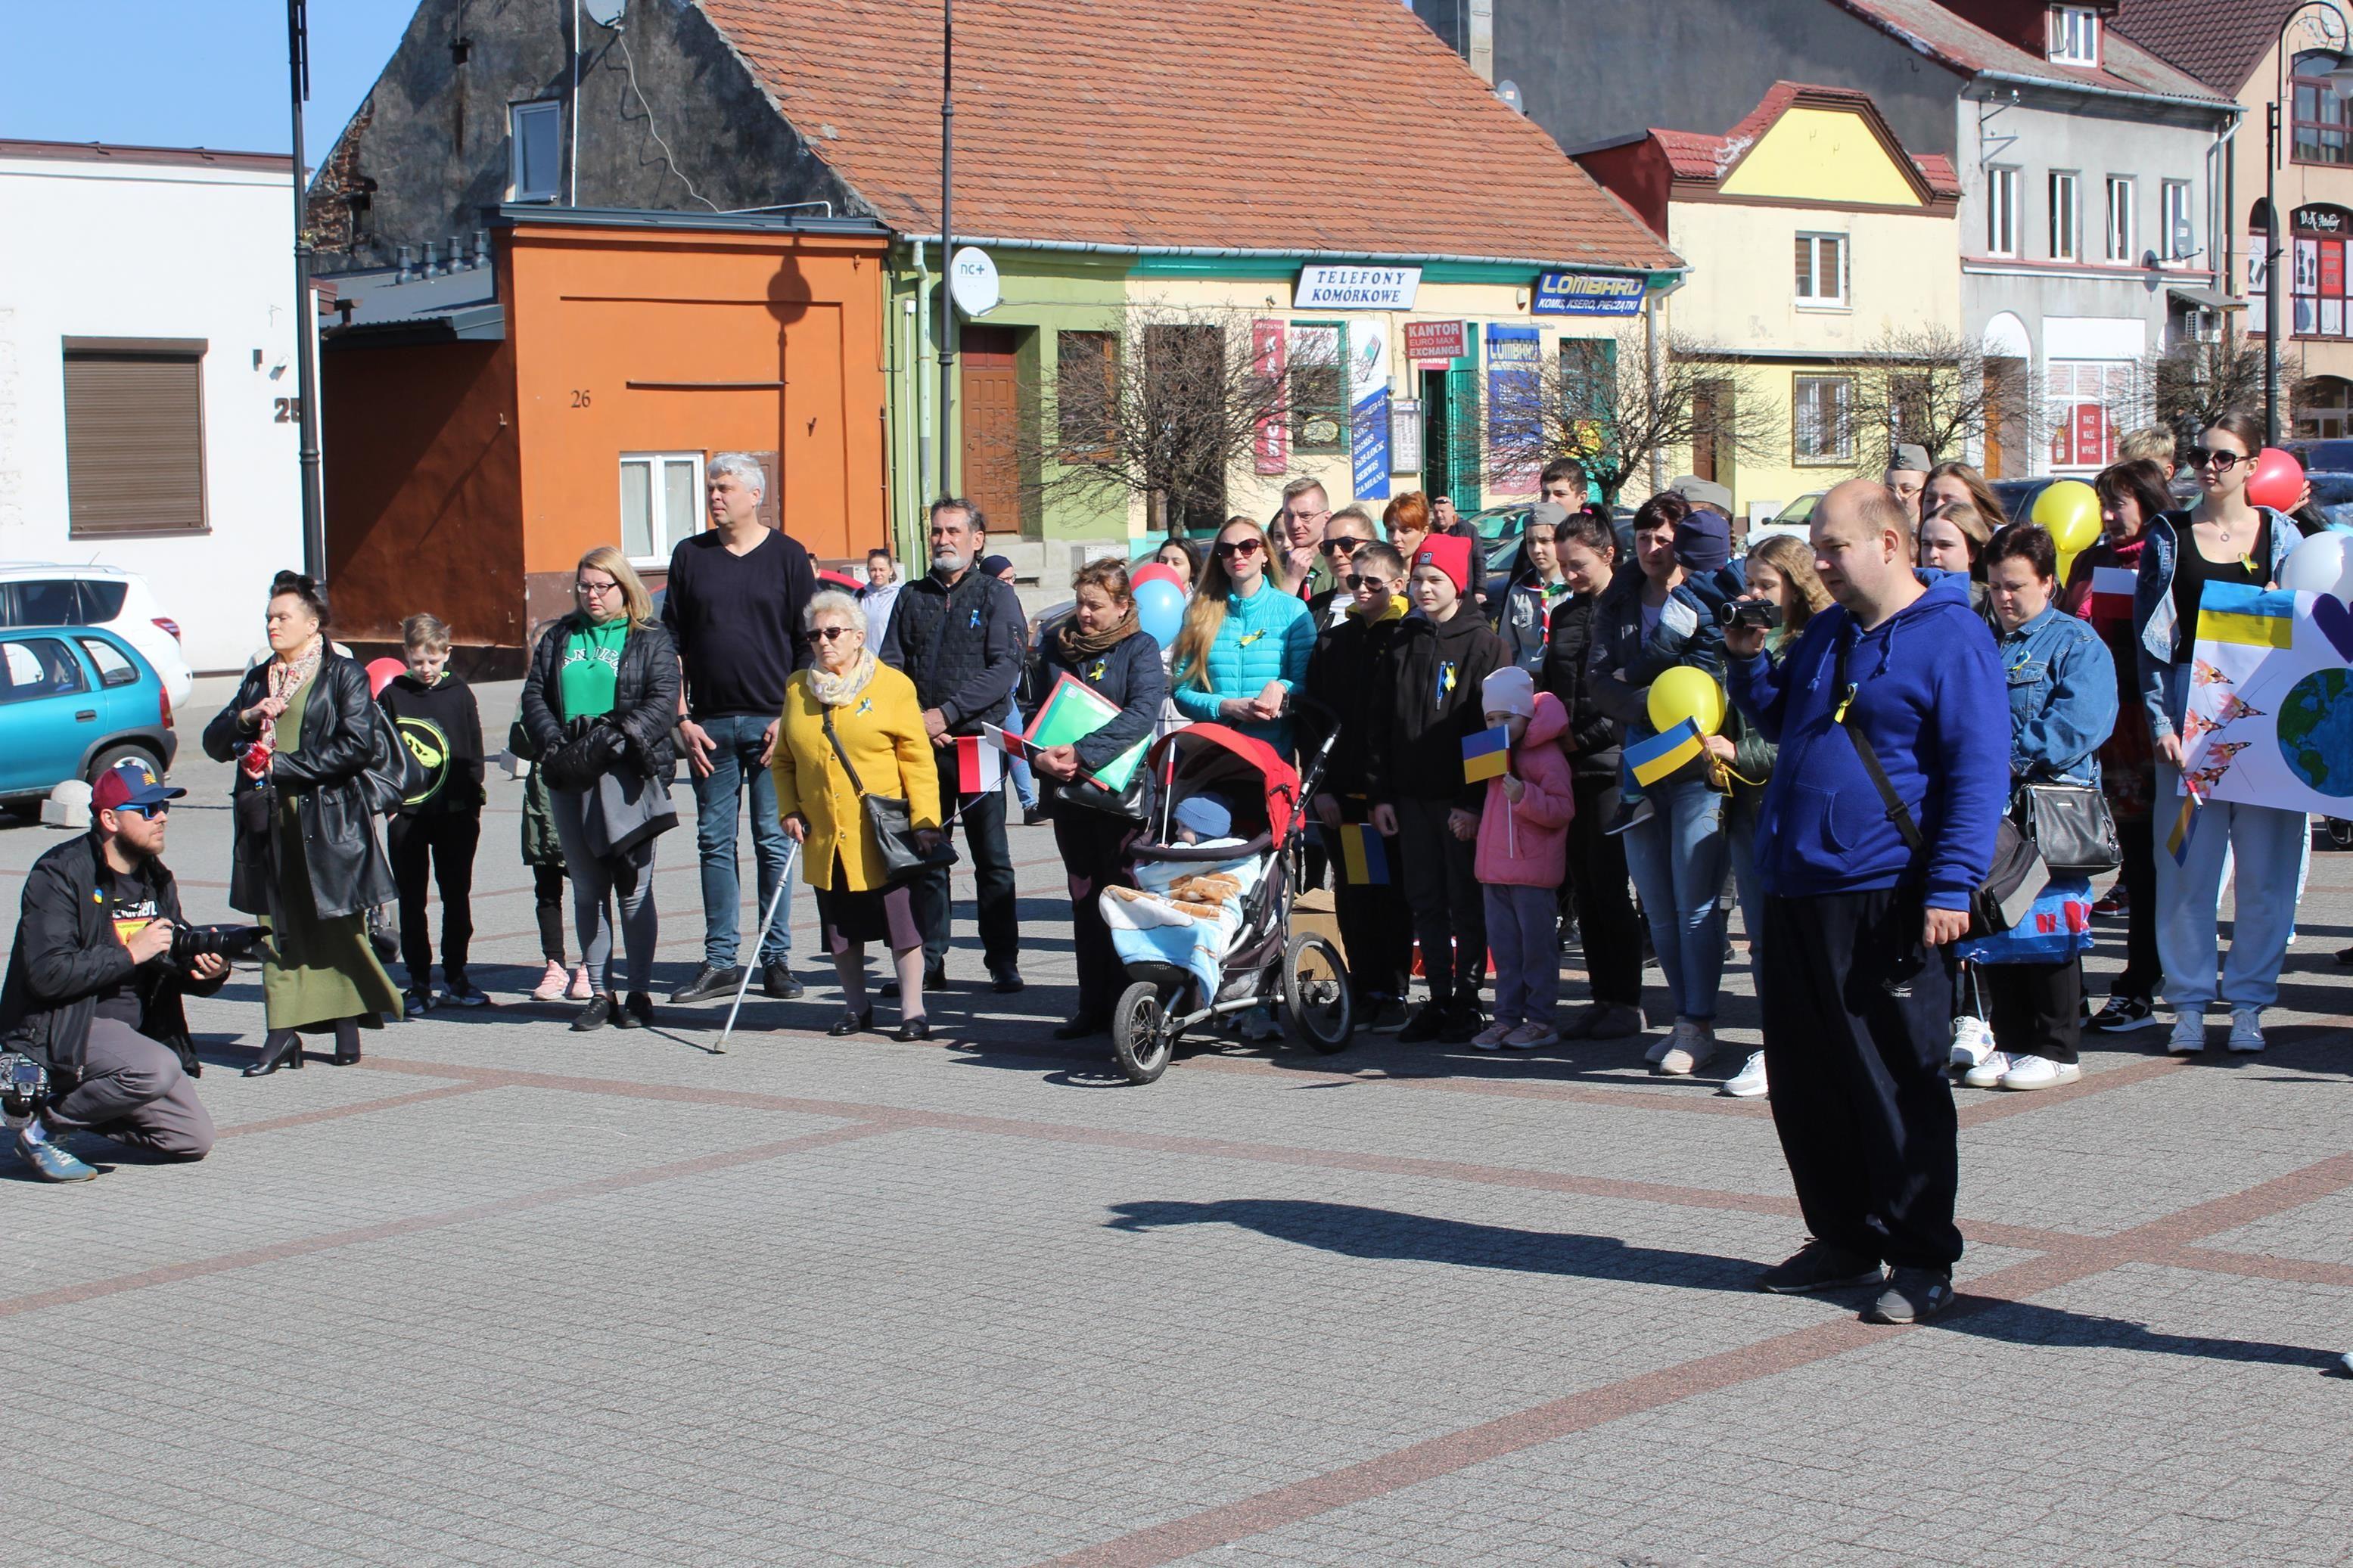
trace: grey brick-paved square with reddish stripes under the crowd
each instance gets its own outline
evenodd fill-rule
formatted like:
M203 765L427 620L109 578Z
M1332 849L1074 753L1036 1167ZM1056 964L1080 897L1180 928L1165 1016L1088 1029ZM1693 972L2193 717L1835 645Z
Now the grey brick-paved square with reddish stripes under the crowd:
M226 919L226 769L174 778L169 860ZM209 1161L85 1138L99 1182L7 1168L0 1561L2353 1554L2341 856L2268 1053L2177 1063L2151 1030L2066 1091L1955 1091L1962 1302L1873 1328L1751 1291L1800 1227L1769 1112L1713 1095L1739 1048L1675 1084L1640 1041L1226 1041L1127 1088L1108 1044L1047 1039L1073 992L1042 830L1014 835L1031 990L951 990L944 1039L826 1039L807 957L809 999L753 994L725 1056L711 1004L572 1034L520 999L518 809L494 778L496 1009L242 1081L240 971L191 1006ZM54 842L7 827L0 865ZM682 978L685 835L656 898ZM1746 959L1727 980L1744 1048Z

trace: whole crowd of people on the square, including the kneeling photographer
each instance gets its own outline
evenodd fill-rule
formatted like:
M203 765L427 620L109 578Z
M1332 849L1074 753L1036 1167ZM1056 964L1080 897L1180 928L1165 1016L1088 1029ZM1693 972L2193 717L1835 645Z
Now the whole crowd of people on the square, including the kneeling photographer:
M1106 1032L1125 985L1099 896L1132 886L1141 818L1134 792L1099 773L1176 724L1322 752L1311 877L1329 882L1358 1020L1400 1044L1649 1037L1659 1074L1699 1074L1720 1058L1739 910L1765 1044L1722 1093L1769 1095L1814 1237L1762 1284L1871 1279L1880 1316L1911 1321L1951 1298L1960 1255L1953 1074L2068 1084L2085 1030L2158 1027L2160 1006L2177 1053L2205 1048L2209 1009L2228 1013L2231 1051L2264 1048L2294 924L2278 891L2299 884L2306 820L2212 802L2181 856L2160 853L2155 830L2181 797L2200 595L2275 583L2301 538L2292 515L2247 501L2259 447L2252 421L2214 421L2184 468L2188 505L2169 437L2127 451L2097 480L2104 536L2071 569L1979 473L1915 447L1882 480L1833 487L1809 538L1762 536L1739 557L1720 487L1685 477L1621 524L1555 463L1497 578L1445 498L1402 494L1374 517L1297 480L1271 520L1231 517L1209 541L1151 552L1184 592L1167 646L1118 559L1085 567L1068 616L1028 646L1012 569L962 498L929 508L927 571L901 581L878 550L861 592L826 588L809 552L762 522L762 465L727 454L708 465L713 527L678 545L659 611L631 562L598 548L574 571L574 609L532 646L508 731L532 762L522 858L546 961L532 994L576 1001L574 1030L654 1018L652 867L678 762L704 943L671 1004L748 983L746 816L748 969L765 994L805 990L791 966L802 882L842 1001L828 1032L873 1030L880 994L896 1039L929 1037L927 999L953 983L958 860L986 985L1021 992L1007 799L972 776L972 743L1016 733L1021 693L1035 703L1068 679L1113 717L1012 752L1035 773L1026 816L1052 823L1068 872L1078 1001L1059 1039ZM2092 592L2113 569L2132 574L2129 604ZM405 672L372 693L327 637L320 585L282 574L266 625L271 656L205 729L207 755L238 766L231 905L268 933L268 1034L249 1074L304 1065L304 1034L351 1063L384 1018L485 1001L468 973L485 748L475 698L447 670L449 628L414 616ZM1473 769L1497 733L1501 771ZM2127 961L2097 1011L2082 994L2087 877L2054 875L2038 893L2059 919L2028 924L2057 943L1984 917L2002 825L2033 827L2038 790L2097 797L2113 820L2118 879L2099 907L2125 917ZM52 851L26 886L0 1023L45 1037L78 1084L19 1135L45 1175L78 1164L54 1145L66 1131L179 1157L209 1147L179 994L226 966L153 936L176 898L141 875L160 865L176 795L108 776L89 839ZM1341 856L1348 832L1379 856ZM2275 896L2240 903L2219 954L2231 863ZM369 940L376 905L398 905L405 987ZM92 929L99 917L115 931L146 919L148 933L118 940ZM68 961L73 943L101 952ZM892 954L875 992L868 943ZM1567 952L1581 952L1584 997L1562 1016ZM1645 992L1647 964L1659 976ZM1282 1032L1264 1009L1240 1027Z

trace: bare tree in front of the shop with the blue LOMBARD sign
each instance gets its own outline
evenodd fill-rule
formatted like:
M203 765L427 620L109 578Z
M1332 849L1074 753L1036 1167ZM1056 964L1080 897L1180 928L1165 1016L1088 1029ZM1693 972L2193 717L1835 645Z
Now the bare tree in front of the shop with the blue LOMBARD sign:
M1569 458L1617 503L1652 454L1755 456L1774 428L1739 357L1671 334L1652 374L1645 334L1631 327L1562 339L1555 357L1489 376L1487 470L1534 475Z

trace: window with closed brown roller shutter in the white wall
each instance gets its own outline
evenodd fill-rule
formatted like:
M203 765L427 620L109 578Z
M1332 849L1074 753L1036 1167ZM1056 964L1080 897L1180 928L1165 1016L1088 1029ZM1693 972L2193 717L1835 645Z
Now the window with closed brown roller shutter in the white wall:
M68 534L202 534L205 343L66 339L64 355Z

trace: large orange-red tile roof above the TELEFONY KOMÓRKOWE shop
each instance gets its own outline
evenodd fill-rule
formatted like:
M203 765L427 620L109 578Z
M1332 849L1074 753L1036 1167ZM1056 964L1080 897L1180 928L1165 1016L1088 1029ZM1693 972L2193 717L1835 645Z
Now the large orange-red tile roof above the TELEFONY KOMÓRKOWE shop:
M939 233L939 7L696 0L899 233ZM1675 268L1398 0L958 0L955 230Z

